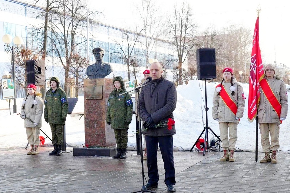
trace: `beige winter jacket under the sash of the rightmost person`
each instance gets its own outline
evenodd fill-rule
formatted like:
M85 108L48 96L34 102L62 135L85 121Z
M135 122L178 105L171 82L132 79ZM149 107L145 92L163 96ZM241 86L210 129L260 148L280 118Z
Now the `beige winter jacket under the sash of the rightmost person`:
M272 91L282 106L280 117L286 118L288 111L288 96L284 81L278 79L276 75L274 75L274 79L267 79L266 77L265 79L268 81ZM260 88L260 92L261 99L258 107L258 122L280 124L280 117L278 117L277 113L270 105L268 99L262 91L262 88Z

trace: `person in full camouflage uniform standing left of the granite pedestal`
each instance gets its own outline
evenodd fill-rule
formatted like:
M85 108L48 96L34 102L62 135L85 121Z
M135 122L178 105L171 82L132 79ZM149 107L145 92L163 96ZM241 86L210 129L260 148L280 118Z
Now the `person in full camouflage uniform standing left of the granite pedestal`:
M68 100L64 90L59 87L58 77L51 77L49 84L51 88L44 98L44 120L50 124L54 146L54 150L49 155L60 156L63 143L62 128L68 114Z

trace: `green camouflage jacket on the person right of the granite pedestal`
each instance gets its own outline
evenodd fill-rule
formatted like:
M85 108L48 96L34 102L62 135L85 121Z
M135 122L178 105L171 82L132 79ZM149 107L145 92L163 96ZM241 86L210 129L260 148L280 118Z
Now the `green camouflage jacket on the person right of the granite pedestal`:
M107 102L107 115L106 122L111 123L112 129L126 129L129 125L125 122L131 123L133 116L133 102L130 94L124 94L118 96L119 94L126 92L123 87L118 90L115 88L109 96Z

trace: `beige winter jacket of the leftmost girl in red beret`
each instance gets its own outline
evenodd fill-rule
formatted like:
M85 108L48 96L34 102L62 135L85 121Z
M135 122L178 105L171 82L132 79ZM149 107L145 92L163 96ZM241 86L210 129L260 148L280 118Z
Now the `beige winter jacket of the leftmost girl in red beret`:
M33 108L31 108L33 104L33 97L28 95L27 100L25 102L25 107L23 109L23 105L21 106L21 116L25 115L24 120L24 127L42 127L41 123L41 117L43 113L43 100L39 97L35 97L35 101L37 102L36 105L33 105ZM25 98L23 99L25 100ZM29 120L31 119L31 121ZM33 122L32 122L33 121ZM34 125L34 123L38 123L37 126Z

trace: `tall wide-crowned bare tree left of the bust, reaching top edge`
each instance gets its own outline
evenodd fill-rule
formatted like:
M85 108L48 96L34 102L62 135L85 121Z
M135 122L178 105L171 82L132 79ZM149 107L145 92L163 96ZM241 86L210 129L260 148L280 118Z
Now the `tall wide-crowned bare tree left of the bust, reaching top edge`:
M77 2L81 2L77 0ZM86 2L81 2L86 4ZM68 92L68 75L72 57L75 53L85 55L86 42L88 41L84 34L87 31L87 14L83 11L84 7L70 0L51 0L47 1L47 12L40 13L38 17L45 15L44 27L35 27L35 35L38 38L45 37L43 28L47 27L51 33L47 38L53 45L52 52L56 53L61 65L64 68L64 90ZM90 12L89 15L96 15L98 12ZM47 16L47 17L46 17ZM45 57L47 41L43 42L42 56Z

